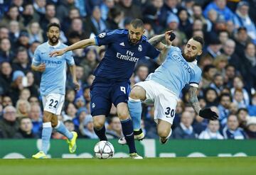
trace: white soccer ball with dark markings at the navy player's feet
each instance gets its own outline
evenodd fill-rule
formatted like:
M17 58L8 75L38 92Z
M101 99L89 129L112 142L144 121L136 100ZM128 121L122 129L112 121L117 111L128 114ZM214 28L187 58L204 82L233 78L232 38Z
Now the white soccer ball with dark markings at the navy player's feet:
M110 142L97 142L94 148L95 156L99 159L110 159L114 155L114 147Z

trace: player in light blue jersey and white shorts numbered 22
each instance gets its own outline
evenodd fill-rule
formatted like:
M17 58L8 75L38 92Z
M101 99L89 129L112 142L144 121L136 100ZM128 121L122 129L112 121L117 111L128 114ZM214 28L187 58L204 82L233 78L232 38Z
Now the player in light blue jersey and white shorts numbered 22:
M72 52L66 52L59 57L50 57L49 53L55 49L67 47L60 43L60 26L57 23L50 23L47 30L48 41L36 48L32 61L32 69L42 72L40 91L43 99L43 131L42 149L32 157L35 159L47 158L47 150L50 144L50 135L53 128L68 138L70 153L75 152L75 140L78 137L76 132L70 132L65 125L58 121L63 103L65 100L66 64L70 67L75 88L79 89L75 76L75 62Z

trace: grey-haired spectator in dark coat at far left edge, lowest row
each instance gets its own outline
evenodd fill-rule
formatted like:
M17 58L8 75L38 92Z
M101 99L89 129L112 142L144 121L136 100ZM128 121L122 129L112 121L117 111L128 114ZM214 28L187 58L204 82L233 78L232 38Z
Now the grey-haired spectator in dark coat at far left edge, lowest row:
M0 135L6 139L13 138L17 130L16 109L14 106L6 106L3 118L0 119Z

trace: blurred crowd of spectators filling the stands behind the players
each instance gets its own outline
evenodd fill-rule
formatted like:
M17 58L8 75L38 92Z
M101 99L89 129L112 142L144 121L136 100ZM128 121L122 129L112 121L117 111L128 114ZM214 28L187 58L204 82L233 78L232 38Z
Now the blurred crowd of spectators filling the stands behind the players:
M174 30L173 45L181 49L194 35L204 38L198 57L202 81L198 99L219 120L199 117L188 103L184 88L172 126L174 139L256 138L256 1L239 0L0 0L0 138L41 137L39 93L41 74L31 71L36 47L47 41L48 23L60 23L62 43L72 45L104 31L127 28L133 18L144 21L146 37ZM65 105L59 120L80 138L97 139L90 115L93 71L105 47L74 50L74 90L68 72ZM131 86L144 81L159 67L147 57L137 62ZM106 121L107 137L122 137L114 106ZM146 138L158 138L154 106L143 104L142 128ZM53 132L55 139L64 136Z

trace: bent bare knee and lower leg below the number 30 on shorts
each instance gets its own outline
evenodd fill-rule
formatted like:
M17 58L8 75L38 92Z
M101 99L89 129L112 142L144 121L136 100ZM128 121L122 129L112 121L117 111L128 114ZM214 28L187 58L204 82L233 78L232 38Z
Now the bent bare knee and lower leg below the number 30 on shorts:
M171 123L166 122L165 120L158 120L157 123L157 133L159 135L159 142L161 144L166 144L168 142L169 137L171 136Z

